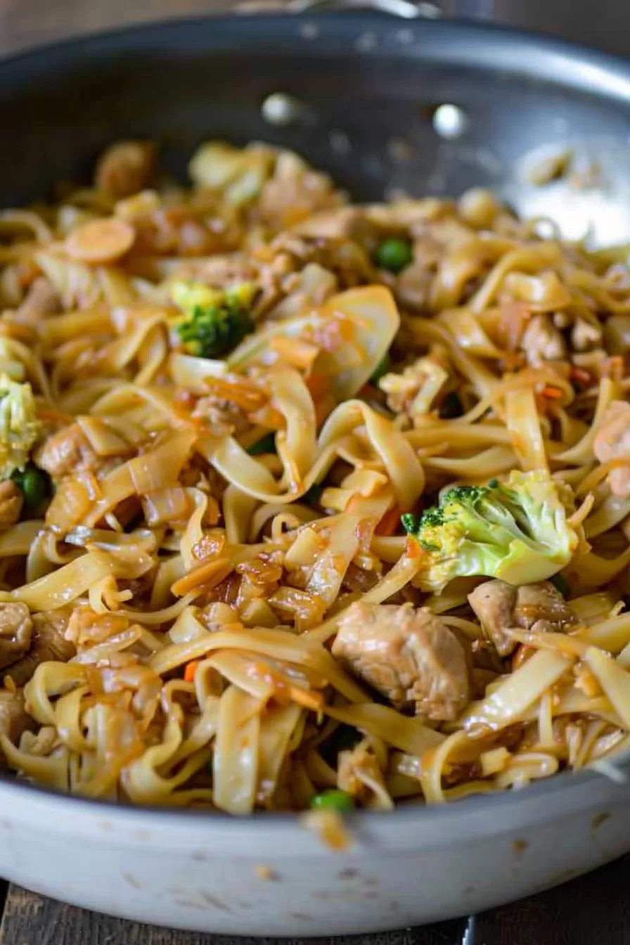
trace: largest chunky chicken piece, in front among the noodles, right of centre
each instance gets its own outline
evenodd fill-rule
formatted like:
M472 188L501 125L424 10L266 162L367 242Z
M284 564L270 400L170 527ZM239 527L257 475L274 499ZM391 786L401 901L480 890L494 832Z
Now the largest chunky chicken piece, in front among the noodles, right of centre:
M456 718L468 701L466 654L430 610L357 602L339 621L332 654L397 708L436 721Z

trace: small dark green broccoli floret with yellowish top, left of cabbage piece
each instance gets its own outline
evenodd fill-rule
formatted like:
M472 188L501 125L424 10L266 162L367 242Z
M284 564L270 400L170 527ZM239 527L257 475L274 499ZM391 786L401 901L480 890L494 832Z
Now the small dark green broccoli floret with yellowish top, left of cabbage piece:
M197 357L219 358L254 330L249 314L255 286L233 285L225 292L200 283L175 283L173 301L185 313L176 326L186 350Z

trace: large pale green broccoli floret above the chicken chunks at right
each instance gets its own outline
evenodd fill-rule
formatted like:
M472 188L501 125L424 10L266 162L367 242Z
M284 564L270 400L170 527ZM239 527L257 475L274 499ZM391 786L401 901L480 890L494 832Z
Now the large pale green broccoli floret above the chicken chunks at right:
M512 472L503 484L447 490L419 521L401 518L429 556L419 587L440 592L453 577L474 575L509 584L546 580L569 563L579 541L568 508L570 492L548 472Z

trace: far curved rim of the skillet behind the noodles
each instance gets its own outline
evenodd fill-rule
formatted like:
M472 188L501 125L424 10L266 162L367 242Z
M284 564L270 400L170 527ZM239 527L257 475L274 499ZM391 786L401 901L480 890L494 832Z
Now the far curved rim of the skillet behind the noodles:
M240 13L229 10L211 14L194 14L184 17L147 20L116 26L105 30L88 30L67 39L59 39L52 43L36 43L26 48L16 49L0 56L0 74L3 70L22 68L38 64L38 60L45 65L49 58L71 57L74 59L89 59L92 53L107 50L111 45L127 45L133 40L149 39L159 41L163 38L162 48L167 50L176 43L169 42L174 33L188 32L199 42L200 29L203 26L213 26L213 35L216 30L231 30L238 24L243 31L251 30L252 38L260 43L266 30L273 29L278 34L279 25L291 26L289 32L292 38L299 34L299 26L315 24L320 29L319 39L330 39L333 33L343 35L350 29L375 33L380 38L390 41L389 44L376 43L369 51L350 48L349 56L360 59L378 57L385 52L390 55L396 52L401 57L412 55L419 60L432 61L434 44L442 56L451 53L447 61L459 62L461 65L487 69L488 64L496 71L516 77L530 77L537 82L553 82L562 86L570 86L587 94L600 94L608 98L621 99L630 104L630 59L621 55L608 53L596 49L585 43L571 43L568 40L556 38L545 33L536 33L533 30L520 29L515 26L505 26L487 21L473 21L468 19L399 19L382 11L350 10L328 11L320 13L265 11L261 13ZM323 32L324 27L334 26L333 32ZM400 32L404 32L406 39L399 41ZM424 39L432 43L422 43L415 48L408 37L414 33L423 34ZM471 39L477 42L469 42ZM440 42L448 40L440 46ZM457 43L457 41L465 41ZM501 43L497 41L501 40ZM305 48L317 51L317 41L304 39ZM308 45L306 44L308 43ZM488 60L489 48L496 53L501 47L501 60ZM278 54L284 55L286 49L278 48ZM539 58L531 56L519 57L519 52L542 53L553 62L553 70L539 69ZM301 55L294 52L294 55ZM577 76L575 67L581 67L581 75ZM573 79L580 81L568 82L569 73Z

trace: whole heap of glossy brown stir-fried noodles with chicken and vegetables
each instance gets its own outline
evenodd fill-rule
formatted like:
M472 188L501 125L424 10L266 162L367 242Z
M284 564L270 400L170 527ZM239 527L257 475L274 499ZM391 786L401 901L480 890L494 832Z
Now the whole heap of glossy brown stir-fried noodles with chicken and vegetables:
M190 173L121 143L0 215L9 766L249 814L629 747L628 248L262 145ZM452 525L495 492L524 539Z

